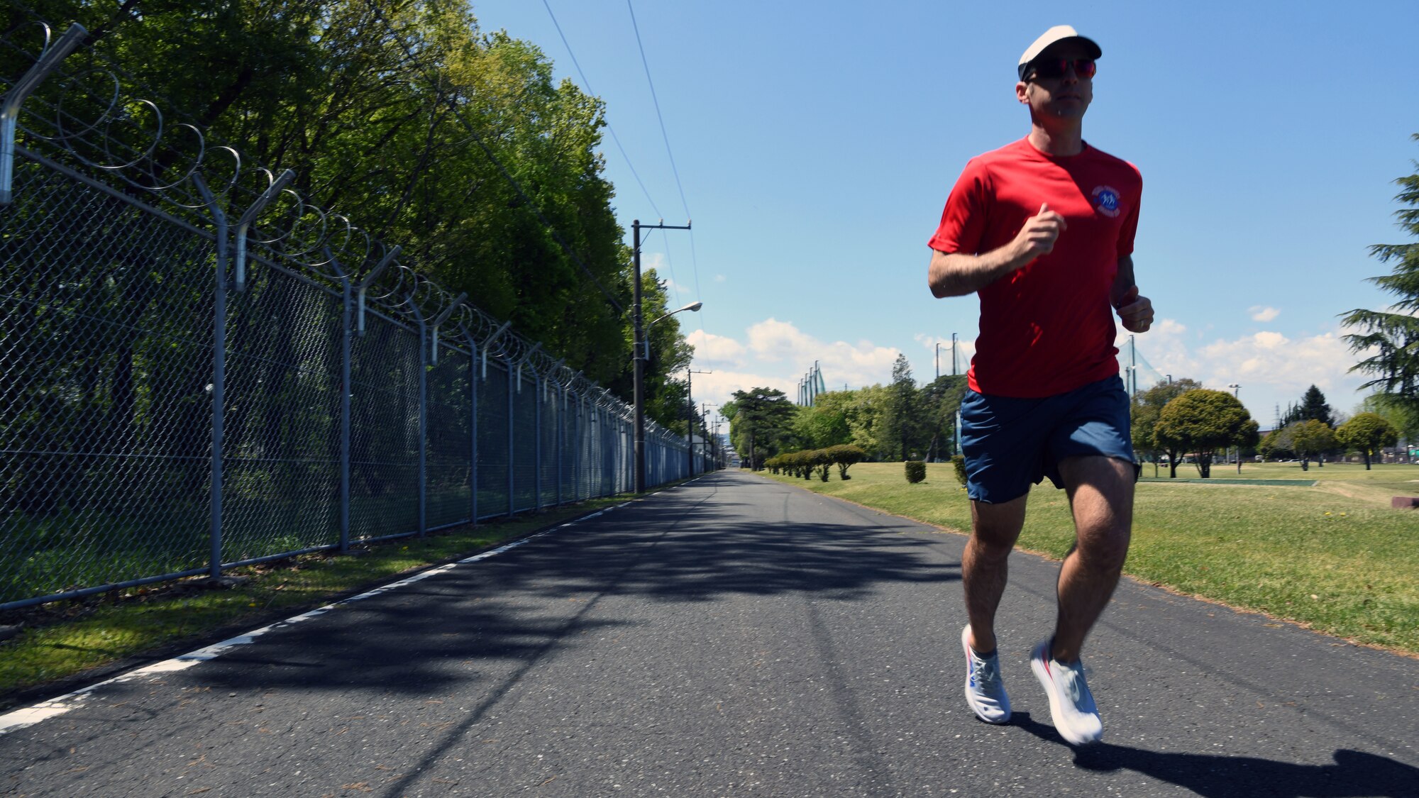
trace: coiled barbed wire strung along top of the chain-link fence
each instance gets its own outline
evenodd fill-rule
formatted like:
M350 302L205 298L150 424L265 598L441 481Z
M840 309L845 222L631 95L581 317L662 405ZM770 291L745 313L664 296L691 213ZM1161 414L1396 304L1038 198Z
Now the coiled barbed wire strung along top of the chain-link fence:
M23 41L26 35L33 40ZM40 62L54 44L54 27L41 18L0 35L0 51L17 54L30 65ZM199 227L209 227L216 214L228 222L241 217L280 180L278 170L248 163L238 148L210 141L210 132L200 125L169 121L160 94L104 54L92 48L84 48L82 54L88 64L70 68L67 61L61 62L24 99L17 119L23 143L17 141L17 146L27 152L34 148L35 155L88 172L91 179L116 179ZM0 77L0 101L16 81ZM210 186L210 199L194 177ZM324 209L294 187L282 187L261 207L244 234L247 244L254 244L253 260L294 264L329 285L360 284L370 304L413 325L451 308L446 328L463 331L485 356L521 364L538 379L595 396L599 406L633 417L624 400L473 302L454 297L414 266L400 263L397 256L365 285L363 280L394 247L359 227L352 216ZM673 434L653 419L646 425L647 433Z

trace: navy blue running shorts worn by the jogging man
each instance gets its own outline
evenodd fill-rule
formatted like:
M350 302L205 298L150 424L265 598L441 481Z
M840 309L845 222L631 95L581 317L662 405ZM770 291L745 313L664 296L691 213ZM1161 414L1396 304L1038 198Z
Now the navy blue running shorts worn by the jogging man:
M966 493L1002 504L1044 477L1064 487L1059 463L1066 457L1103 454L1132 463L1128 427L1128 393L1118 375L1043 399L966 389L961 400Z

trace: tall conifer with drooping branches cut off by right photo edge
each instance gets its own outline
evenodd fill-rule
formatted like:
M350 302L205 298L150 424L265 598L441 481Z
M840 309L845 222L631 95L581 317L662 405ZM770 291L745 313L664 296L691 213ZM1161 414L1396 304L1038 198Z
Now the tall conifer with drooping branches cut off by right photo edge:
M1419 141L1419 133L1413 139ZM1419 170L1395 182L1401 186L1395 199L1408 206L1395 212L1398 224L1419 236ZM1375 378L1362 388L1376 388L1392 400L1419 409L1419 243L1375 244L1369 254L1381 263L1393 261L1389 274L1369 281L1398 301L1384 311L1355 308L1344 314L1344 324L1361 331L1345 337L1351 352L1374 352L1349 371Z

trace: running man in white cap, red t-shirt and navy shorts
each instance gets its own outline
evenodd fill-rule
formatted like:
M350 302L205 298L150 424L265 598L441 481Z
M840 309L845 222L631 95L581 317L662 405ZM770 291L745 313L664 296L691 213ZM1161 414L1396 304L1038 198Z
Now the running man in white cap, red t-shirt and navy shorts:
M981 297L961 405L972 518L961 562L966 701L986 723L1010 718L995 611L1030 484L1049 477L1069 494L1076 535L1054 635L1034 646L1030 669L1076 745L1104 734L1080 650L1128 554L1137 479L1112 314L1132 332L1154 318L1134 284L1142 177L1083 139L1101 54L1057 26L1020 55L1015 97L1030 109L1030 135L966 163L931 237L928 273L938 298Z

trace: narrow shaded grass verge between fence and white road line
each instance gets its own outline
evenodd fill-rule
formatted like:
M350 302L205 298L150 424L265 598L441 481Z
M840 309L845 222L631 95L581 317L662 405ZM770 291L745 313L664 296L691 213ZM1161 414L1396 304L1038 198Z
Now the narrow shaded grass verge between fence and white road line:
M223 572L237 576L240 584L231 588L182 579L4 613L0 623L24 629L0 643L0 710L126 669L135 657L182 653L626 498L385 541L346 555L321 552L233 568Z

